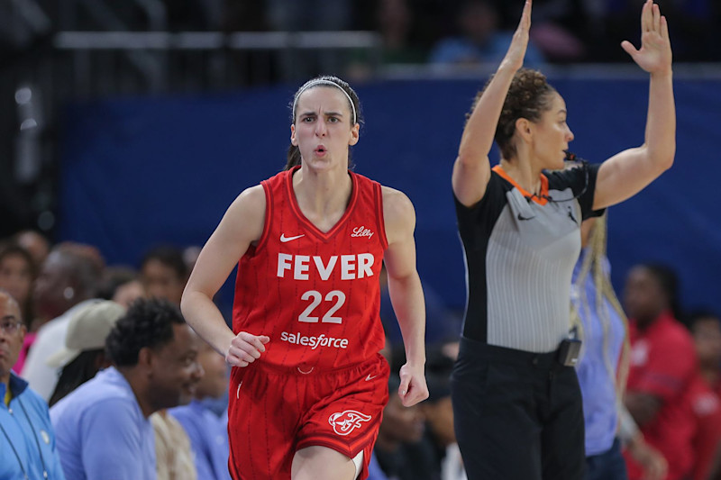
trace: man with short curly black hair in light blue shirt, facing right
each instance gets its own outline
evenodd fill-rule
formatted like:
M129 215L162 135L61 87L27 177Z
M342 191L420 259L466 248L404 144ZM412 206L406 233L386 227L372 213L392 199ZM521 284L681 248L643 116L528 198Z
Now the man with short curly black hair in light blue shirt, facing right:
M203 375L199 341L178 308L141 299L105 340L113 367L50 411L63 470L73 480L154 480L153 412L187 403ZM109 434L112 432L112 434Z

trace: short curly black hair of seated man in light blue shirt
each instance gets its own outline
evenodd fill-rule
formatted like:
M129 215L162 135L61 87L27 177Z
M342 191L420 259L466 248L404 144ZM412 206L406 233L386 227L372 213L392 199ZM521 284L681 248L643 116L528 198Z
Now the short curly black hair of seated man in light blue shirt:
M132 303L105 340L105 351L116 367L138 364L138 352L173 340L173 324L186 321L177 306L166 300L141 298Z

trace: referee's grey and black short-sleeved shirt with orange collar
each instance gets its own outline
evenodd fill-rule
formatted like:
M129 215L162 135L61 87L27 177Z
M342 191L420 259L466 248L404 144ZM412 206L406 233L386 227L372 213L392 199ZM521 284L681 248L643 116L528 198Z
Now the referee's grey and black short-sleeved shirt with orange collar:
M580 222L590 216L598 165L543 177L531 196L499 167L486 194L456 199L465 253L463 335L537 353L558 348L570 329L570 277L580 253Z

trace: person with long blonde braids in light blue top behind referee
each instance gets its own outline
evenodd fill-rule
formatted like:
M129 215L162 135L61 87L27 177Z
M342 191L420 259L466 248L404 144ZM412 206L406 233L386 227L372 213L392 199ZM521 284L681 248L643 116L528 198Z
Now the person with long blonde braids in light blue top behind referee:
M619 403L628 373L627 320L610 280L606 256L607 215L581 223L580 258L571 279L571 318L580 330L582 354L576 365L583 398L587 480L625 480L621 440L643 467L647 480L661 480L666 460L648 447ZM629 423L621 437L619 416Z

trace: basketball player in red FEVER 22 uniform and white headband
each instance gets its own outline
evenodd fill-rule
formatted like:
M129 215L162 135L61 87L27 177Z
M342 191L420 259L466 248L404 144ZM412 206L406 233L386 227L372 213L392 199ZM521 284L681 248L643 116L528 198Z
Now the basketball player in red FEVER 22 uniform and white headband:
M358 96L337 77L301 86L287 169L248 188L205 244L183 294L187 322L233 366L234 479L365 478L388 402L379 272L406 344L398 389L428 396L415 211L349 170ZM238 263L233 331L212 298Z

